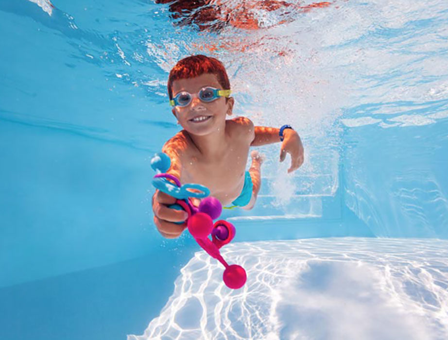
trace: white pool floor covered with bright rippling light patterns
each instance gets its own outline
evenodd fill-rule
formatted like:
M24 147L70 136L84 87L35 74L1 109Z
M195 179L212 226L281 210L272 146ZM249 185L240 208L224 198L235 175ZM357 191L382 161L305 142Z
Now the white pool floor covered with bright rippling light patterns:
M242 289L198 252L146 339L447 339L448 241L327 238L223 248ZM138 279L138 278L137 278Z

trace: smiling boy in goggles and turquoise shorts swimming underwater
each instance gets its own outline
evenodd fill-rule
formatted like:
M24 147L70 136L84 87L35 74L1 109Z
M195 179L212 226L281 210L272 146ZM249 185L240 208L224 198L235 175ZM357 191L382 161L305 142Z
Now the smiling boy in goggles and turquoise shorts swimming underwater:
M168 78L172 114L183 130L162 148L171 158L168 173L181 184L198 183L210 189L221 204L252 209L260 189L263 158L251 153L252 164L245 171L249 148L282 141L280 161L291 154L288 172L303 163L299 135L289 126L280 129L254 126L250 119L232 114L234 99L223 64L215 58L194 55L180 60ZM176 199L156 190L153 195L154 222L165 238L177 238L187 227L187 213L168 208Z

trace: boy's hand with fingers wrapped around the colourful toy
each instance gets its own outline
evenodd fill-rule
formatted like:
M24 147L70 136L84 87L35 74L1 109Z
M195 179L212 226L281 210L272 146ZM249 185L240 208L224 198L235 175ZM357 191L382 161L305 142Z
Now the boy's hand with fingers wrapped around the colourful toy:
M187 224L173 222L185 221L188 217L184 210L170 209L168 205L176 203L176 199L162 191L155 190L153 195L154 223L164 238L178 238Z

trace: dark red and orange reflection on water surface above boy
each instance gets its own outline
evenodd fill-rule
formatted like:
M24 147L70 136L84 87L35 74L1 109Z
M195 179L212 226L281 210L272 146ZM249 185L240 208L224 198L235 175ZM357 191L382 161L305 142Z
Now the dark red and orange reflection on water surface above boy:
M228 3L222 0L155 0L155 3L170 3L170 11L174 19L180 19L182 24L196 24L199 29L220 30L227 25L255 30L261 28L253 10L267 12L287 8L287 15L294 11L308 12L315 7L328 7L331 2L314 2L309 5L299 5L287 1L253 0L242 3ZM284 23L288 20L278 22Z

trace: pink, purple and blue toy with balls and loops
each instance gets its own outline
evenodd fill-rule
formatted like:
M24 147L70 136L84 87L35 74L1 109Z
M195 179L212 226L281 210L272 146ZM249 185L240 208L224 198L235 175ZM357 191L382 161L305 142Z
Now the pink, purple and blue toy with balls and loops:
M196 242L208 255L217 259L225 267L224 284L231 289L239 289L246 283L246 271L239 265L228 265L219 249L229 243L235 237L235 227L225 220L216 220L223 210L221 202L215 197L208 197L210 190L199 184L188 183L181 185L179 179L169 173L171 159L166 153L156 153L151 159L151 167L156 174L153 178L153 186L176 198L176 203L169 208L185 210L187 220L177 222L187 223L188 230ZM190 198L200 198L198 207L194 206ZM211 236L211 240L209 238Z

